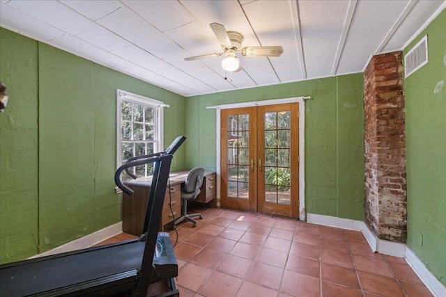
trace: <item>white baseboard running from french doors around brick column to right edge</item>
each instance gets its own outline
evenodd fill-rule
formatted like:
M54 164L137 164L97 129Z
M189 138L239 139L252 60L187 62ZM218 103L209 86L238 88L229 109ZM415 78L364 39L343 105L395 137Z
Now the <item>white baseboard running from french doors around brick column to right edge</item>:
M406 262L408 262L409 266L418 275L429 291L431 291L433 296L446 296L445 285L440 282L428 268L426 268L420 258L418 258L406 244L378 239L378 237L376 237L376 235L369 230L369 227L367 227L361 220L323 216L321 214L307 214L307 223L362 232L369 243L371 250L383 255L405 258Z

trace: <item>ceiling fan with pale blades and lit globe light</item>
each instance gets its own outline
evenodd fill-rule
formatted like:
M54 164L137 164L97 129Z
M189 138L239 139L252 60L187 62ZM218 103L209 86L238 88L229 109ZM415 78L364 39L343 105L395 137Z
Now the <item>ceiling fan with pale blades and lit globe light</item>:
M226 58L222 61L222 67L226 71L238 72L240 67L240 61L236 53L240 53L242 56L248 57L278 57L282 55L284 49L280 46L269 47L241 47L243 41L243 35L238 32L226 31L222 24L212 23L209 24L210 29L214 32L217 39L222 44L221 53L206 54L201 56L193 56L185 58L185 61L193 61L201 58L218 57L226 54Z

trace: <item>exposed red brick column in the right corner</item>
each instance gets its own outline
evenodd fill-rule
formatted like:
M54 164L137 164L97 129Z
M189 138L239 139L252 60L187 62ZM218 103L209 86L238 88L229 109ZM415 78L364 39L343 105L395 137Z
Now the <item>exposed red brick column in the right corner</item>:
M365 223L379 239L406 242L406 135L402 51L373 56L364 71Z

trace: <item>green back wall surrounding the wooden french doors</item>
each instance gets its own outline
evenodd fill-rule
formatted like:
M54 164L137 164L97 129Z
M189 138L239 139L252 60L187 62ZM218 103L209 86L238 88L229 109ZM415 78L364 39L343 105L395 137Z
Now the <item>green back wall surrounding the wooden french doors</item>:
M362 92L362 74L350 74L188 97L186 166L216 169L216 113L206 106L310 95L305 102L307 212L363 220Z

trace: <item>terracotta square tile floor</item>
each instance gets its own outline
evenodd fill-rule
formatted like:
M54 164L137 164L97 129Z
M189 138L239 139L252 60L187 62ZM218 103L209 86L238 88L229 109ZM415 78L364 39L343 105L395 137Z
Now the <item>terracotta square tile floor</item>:
M404 259L371 252L361 232L229 209L181 223L181 297L432 296ZM190 209L190 212L194 211ZM109 239L107 243L128 239Z

